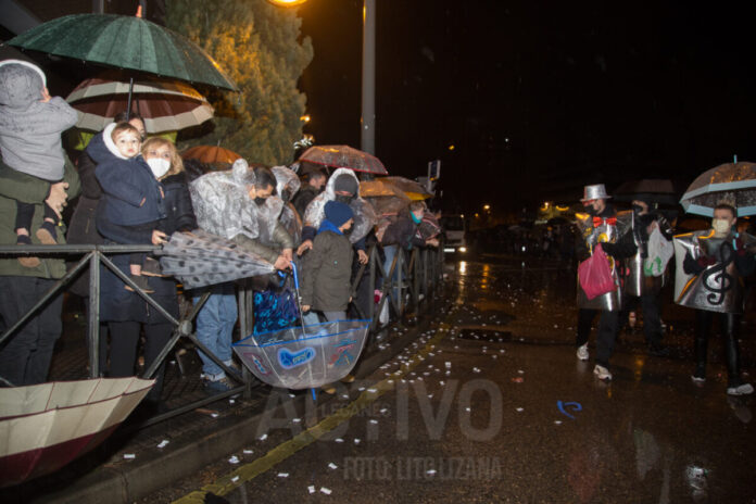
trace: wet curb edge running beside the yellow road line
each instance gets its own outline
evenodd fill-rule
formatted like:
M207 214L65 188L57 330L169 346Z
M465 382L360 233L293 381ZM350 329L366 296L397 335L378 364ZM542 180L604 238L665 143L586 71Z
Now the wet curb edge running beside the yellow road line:
M361 361L355 367L354 376L364 378L393 358L430 326L432 318L430 314L418 317L417 325L410 327L405 335L388 343L388 348ZM298 395L291 401L294 402L294 407L299 407L304 405L305 400L310 400L308 394ZM323 404L329 401L330 399ZM279 404L277 410L282 411L286 403ZM30 502L134 503L201 470L207 465L207 461L223 458L252 443L264 413L262 411L253 416L244 416L242 408L235 415L219 419L220 425L201 439L180 440L177 443L179 446L171 451L155 449L121 467L100 466L71 487L47 495L36 495Z

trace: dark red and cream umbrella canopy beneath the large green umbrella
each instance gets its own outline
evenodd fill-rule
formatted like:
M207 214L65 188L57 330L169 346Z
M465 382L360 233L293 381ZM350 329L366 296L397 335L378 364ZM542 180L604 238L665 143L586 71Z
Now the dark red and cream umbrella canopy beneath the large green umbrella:
M90 78L79 84L66 101L79 112L76 126L99 131L128 108L129 90L134 94L131 112L144 118L150 133L177 131L213 118L207 100L188 84L180 81L137 80L129 83Z

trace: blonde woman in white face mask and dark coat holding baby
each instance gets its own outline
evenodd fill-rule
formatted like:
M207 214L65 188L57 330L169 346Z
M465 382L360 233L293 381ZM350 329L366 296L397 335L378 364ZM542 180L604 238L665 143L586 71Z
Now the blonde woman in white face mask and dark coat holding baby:
M184 175L184 164L169 140L151 138L142 146L142 155L151 168L153 165L168 163L168 169L160 178L165 190L166 217L159 223L159 228L166 235L176 231L189 231L197 228L197 218L191 205L189 188ZM158 160L163 160L156 162ZM101 224L101 229L108 231L111 238L118 234L124 241L149 242L146 236L133 236L134 229L125 226L108 226ZM104 226L102 224L105 224ZM147 232L147 231L144 231ZM118 240L114 240L118 241ZM113 263L123 272L128 272L128 254L113 256ZM149 276L148 282L154 293L154 299L173 317L178 318L178 297L176 282L173 278ZM103 268L101 282L100 318L109 323L112 335L111 374L113 377L134 376L139 342L140 327L144 326L144 366L149 367L171 339L173 325L158 311L149 305L141 297L123 288L124 282L108 268ZM147 407L158 407L162 392L162 381L165 369L163 363L155 374L156 382L147 396Z

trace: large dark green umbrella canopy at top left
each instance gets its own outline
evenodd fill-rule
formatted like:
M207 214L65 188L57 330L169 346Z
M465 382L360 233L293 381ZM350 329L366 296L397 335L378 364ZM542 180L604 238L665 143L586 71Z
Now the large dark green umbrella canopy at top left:
M218 64L187 37L136 16L72 14L42 23L10 46L236 91Z

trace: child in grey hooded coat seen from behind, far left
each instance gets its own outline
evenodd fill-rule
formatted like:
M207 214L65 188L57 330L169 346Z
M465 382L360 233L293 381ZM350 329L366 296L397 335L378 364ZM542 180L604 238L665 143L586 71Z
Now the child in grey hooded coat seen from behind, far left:
M50 97L45 73L22 60L0 62L0 153L16 172L56 184L63 178L65 154L61 134L76 124L76 111L61 97ZM58 243L60 214L47 202L45 218L35 235L45 244ZM16 201L17 244L32 244L34 204ZM38 257L18 257L37 267Z

